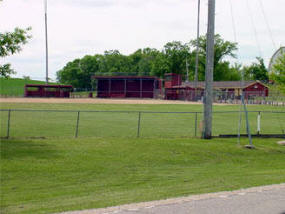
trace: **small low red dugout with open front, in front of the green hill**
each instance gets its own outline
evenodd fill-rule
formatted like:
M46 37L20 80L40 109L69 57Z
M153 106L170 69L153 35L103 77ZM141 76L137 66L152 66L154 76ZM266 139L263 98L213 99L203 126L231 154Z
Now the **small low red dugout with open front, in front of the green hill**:
M25 97L69 97L71 85L25 85Z

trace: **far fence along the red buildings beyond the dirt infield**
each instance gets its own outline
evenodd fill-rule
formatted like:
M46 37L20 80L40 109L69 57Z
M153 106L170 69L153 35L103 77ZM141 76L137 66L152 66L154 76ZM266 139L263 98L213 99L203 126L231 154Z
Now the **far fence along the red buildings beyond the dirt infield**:
M175 93L174 100L190 101L203 103L203 96L195 95L195 91L173 91ZM76 88L74 92L70 93L70 99L80 99L80 98L96 98L98 94L108 94L108 91L95 91L90 89L80 89ZM165 99L166 95L163 90L112 90L113 98L139 98L141 97L153 97L153 99ZM285 96L281 92L270 92L269 96L265 96L263 92L246 92L245 103L248 105L271 105L271 106L285 106ZM7 91L2 91L0 98L17 98L25 97L24 88L10 88ZM240 104L241 96L236 96L233 91L213 91L213 102L214 103L225 103L225 104Z

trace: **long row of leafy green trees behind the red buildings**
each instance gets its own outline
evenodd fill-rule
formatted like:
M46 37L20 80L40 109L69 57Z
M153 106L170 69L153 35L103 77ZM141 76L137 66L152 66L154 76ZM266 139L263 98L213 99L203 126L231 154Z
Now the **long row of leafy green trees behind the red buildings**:
M199 38L198 79L205 79L206 36ZM104 54L86 55L81 59L68 62L57 72L57 80L71 84L75 88L92 88L91 76L96 74L112 75L151 75L163 78L165 73L181 74L183 79L194 80L197 40L189 43L168 42L162 50L155 48L138 49L130 55L118 50L105 51ZM214 80L234 81L241 79L244 72L246 80L268 81L269 75L261 58L250 66L232 65L229 58L236 58L237 43L225 41L215 36ZM186 62L187 61L187 62ZM188 66L188 68L187 68ZM187 75L187 70L189 70Z

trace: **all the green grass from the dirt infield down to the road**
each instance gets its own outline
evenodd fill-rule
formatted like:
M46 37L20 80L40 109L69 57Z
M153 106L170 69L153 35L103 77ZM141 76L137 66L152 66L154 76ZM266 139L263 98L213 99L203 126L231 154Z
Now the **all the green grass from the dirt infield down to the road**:
M202 105L1 103L0 109L201 112ZM254 139L256 150L246 150L236 139L186 138L193 136L194 115L151 113L142 114L136 138L136 112L82 112L78 139L76 112L11 112L12 138L0 147L1 213L54 213L285 182L285 147L277 139ZM0 116L3 137L7 112ZM250 114L252 132L256 116ZM280 133L285 114L264 113L262 121L263 131ZM237 124L237 113L214 115L214 133L236 133Z

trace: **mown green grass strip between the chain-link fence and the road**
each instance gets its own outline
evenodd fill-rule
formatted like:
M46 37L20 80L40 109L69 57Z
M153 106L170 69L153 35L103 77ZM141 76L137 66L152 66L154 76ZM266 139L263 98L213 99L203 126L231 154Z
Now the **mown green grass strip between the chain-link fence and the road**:
M276 139L1 141L1 213L54 213L285 182ZM247 143L246 139L242 143Z

